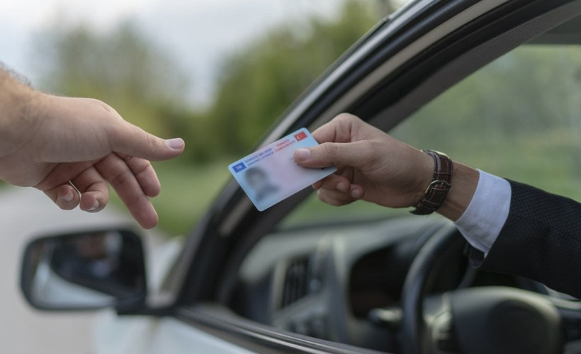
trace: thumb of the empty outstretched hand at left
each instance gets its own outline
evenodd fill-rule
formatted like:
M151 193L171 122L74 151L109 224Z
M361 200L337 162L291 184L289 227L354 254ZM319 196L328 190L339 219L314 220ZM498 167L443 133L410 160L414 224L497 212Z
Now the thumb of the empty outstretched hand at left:
M125 121L123 127L118 127L111 135L110 143L114 152L123 152L150 161L171 159L184 152L186 147L181 138L165 140Z

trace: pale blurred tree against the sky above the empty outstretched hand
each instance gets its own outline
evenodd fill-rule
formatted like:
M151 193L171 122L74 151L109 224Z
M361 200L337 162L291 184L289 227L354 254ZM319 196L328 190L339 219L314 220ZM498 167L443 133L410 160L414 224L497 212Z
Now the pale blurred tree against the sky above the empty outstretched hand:
M187 154L199 154L201 134L191 127L204 120L186 104L187 76L130 21L106 32L57 24L34 44L43 89L98 98L149 132L184 137Z

